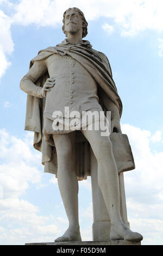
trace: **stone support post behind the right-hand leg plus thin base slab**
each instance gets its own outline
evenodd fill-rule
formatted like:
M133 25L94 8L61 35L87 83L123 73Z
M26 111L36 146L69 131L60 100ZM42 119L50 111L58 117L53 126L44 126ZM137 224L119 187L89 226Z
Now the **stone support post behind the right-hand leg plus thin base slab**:
M26 243L25 245L55 245L55 246L109 246L109 245L141 245L141 242L131 242L128 240L110 239L110 218L106 210L102 192L97 182L97 161L94 154L91 154L91 179L92 179L92 202L93 202L93 241L83 242L42 242ZM127 220L126 197L124 191L123 173L119 175L120 185L120 211L124 223L129 227Z

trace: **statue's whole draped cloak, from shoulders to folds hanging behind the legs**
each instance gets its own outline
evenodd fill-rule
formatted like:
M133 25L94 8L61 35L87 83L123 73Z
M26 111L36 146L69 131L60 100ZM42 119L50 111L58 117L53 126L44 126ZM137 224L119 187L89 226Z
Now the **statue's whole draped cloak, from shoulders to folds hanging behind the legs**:
M85 42L85 43L84 43ZM52 54L66 54L79 62L95 79L98 84L99 104L102 106L104 113L110 111L110 104L115 104L118 112L122 114L122 102L117 93L115 82L112 79L112 72L108 58L104 53L93 50L90 44L83 43L70 45L59 44L55 47L48 47L45 50L39 51L38 55L30 62L29 68L34 62L43 60ZM36 82L36 86L43 86L49 77L48 71L43 74ZM108 99L107 106L104 105L103 98ZM27 96L26 124L25 130L34 131L34 148L42 153L42 164L44 172L52 173L57 176L57 153L55 145L47 143L43 138L43 111L46 98L39 98L32 95ZM91 160L90 160L90 144L83 136L81 131L76 131L76 174L78 180L87 178L91 175Z

